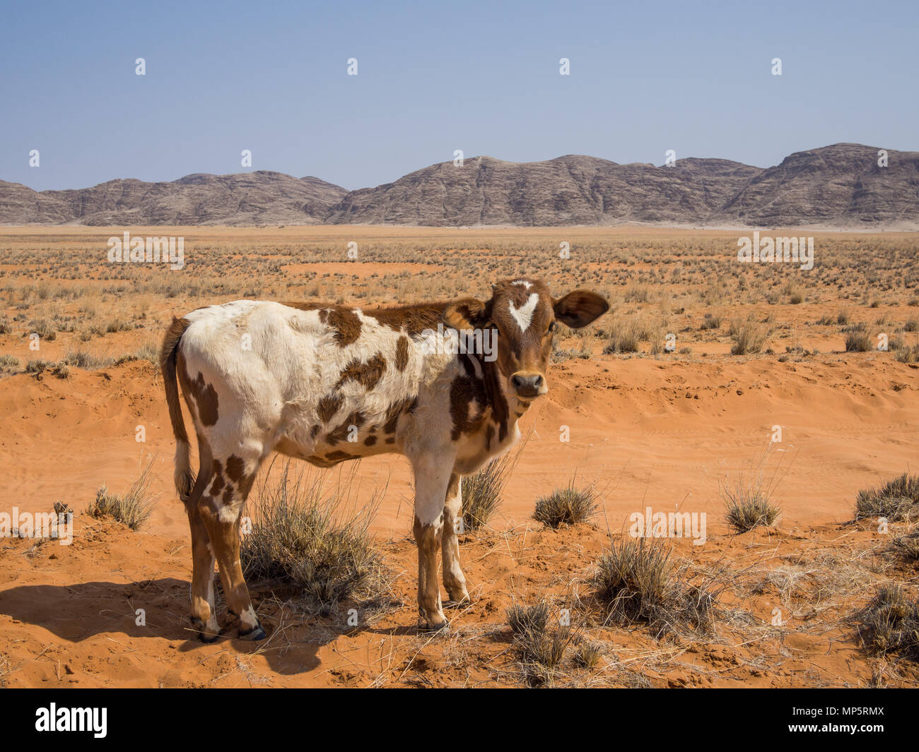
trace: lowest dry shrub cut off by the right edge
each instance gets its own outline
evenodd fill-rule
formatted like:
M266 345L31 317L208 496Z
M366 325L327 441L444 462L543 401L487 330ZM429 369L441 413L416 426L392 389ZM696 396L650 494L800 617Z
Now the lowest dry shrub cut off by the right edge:
M919 603L900 585L882 585L856 614L862 646L876 656L919 657Z

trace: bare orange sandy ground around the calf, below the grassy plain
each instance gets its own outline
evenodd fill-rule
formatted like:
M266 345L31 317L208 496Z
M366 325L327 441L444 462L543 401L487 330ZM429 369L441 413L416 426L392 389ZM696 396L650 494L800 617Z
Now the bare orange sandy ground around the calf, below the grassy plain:
M338 228L315 230L347 236L337 235ZM413 234L379 230L383 240ZM635 230L645 231L652 230ZM17 229L22 237L41 232ZM245 237L244 230L234 236ZM295 271L309 274L314 265L321 264ZM413 265L405 264L408 271ZM836 307L796 306L789 318L815 318ZM106 346L127 348L138 336L115 332ZM62 339L49 342L42 357L64 353ZM2 342L5 353L25 347L13 338ZM591 639L604 645L599 667L569 672L558 683L919 686L914 664L879 663L861 651L850 619L874 585L916 582L914 566L885 555L889 535L873 523L850 521L860 488L919 466L919 368L891 353L845 353L838 332L811 332L799 342L820 354L784 362L766 354L732 357L722 338L679 359L595 348L589 359L553 365L550 394L523 424L528 441L501 511L489 530L462 537L473 602L449 612L448 635L414 629L407 463L394 455L364 461L362 488L386 486L372 530L391 569L389 605L355 628L346 624L347 604L320 617L255 589L271 632L257 645L235 639L232 626L214 645L200 644L188 630L187 520L172 486L174 443L153 366L74 367L65 379L4 376L4 509L50 511L61 500L77 515L71 545L0 539L0 683L520 686L527 682L511 645L507 607L544 594L562 603L573 591L585 592L608 535L618 537L632 512L651 507L707 515L706 543L675 540L675 556L720 572L732 615L715 634L698 638L591 628ZM138 426L143 443L135 440ZM560 441L566 429L570 440ZM79 513L100 486L127 488L150 457L157 502L141 533ZM724 522L720 488L752 477L759 463L782 517L775 529L735 535ZM595 485L599 514L590 524L544 529L530 517L536 499L572 477ZM135 623L137 609L145 611L144 626ZM782 612L778 625L775 609Z

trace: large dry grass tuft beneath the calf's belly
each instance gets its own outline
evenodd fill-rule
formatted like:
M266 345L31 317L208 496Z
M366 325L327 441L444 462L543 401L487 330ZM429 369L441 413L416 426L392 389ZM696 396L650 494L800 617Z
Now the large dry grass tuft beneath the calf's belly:
M380 493L355 509L356 472L354 463L326 492L323 474L312 468L290 477L287 462L271 483L269 467L257 489L252 532L240 546L245 577L285 583L323 614L339 600L377 588L381 561L369 522Z

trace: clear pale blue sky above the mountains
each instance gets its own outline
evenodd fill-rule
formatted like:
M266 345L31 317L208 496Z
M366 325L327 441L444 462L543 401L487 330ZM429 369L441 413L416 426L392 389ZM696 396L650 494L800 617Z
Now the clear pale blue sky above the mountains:
M0 179L35 189L839 141L919 150L919 1L0 0Z

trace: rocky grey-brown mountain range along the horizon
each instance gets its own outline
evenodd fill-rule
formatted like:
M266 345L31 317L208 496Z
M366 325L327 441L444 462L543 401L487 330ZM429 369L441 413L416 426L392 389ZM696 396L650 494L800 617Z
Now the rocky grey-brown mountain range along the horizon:
M315 177L190 174L36 192L0 181L0 223L84 225L392 224L435 227L652 223L919 229L919 152L834 144L766 169L721 159L673 166L568 154L432 164L346 191Z

